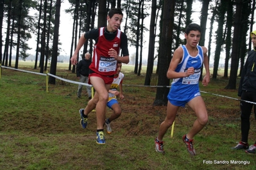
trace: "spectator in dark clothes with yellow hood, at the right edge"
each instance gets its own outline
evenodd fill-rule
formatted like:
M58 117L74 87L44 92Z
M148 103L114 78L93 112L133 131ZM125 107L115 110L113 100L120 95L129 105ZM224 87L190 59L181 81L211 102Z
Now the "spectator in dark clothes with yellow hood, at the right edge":
M250 116L252 107L256 103L256 30L252 31L250 38L253 43L253 50L248 52L248 58L244 64L242 75L238 88L238 96L241 97L240 109L241 109L241 141L237 144L233 150L245 150L246 153L255 153L256 141L249 147L248 134L250 130ZM248 102L246 102L248 101ZM254 104L250 103L253 102Z

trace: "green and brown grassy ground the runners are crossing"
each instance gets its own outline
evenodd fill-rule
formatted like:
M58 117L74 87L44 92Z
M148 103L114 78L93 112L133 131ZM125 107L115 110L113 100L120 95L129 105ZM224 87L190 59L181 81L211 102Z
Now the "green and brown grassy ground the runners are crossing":
M57 68L57 76L78 81L68 64L58 63ZM39 72L27 62L20 62L19 69ZM123 84L144 84L145 67L141 76L133 74L133 66L123 65L122 70ZM237 90L224 89L226 84L219 76L200 86L207 92L201 95L209 123L194 138L197 155L191 157L182 142L196 118L187 106L178 111L173 137L171 128L165 135L162 155L155 151L154 139L166 106L152 105L156 88L124 86L122 115L112 122L113 133L105 133L106 144L99 145L95 112L89 114L86 129L80 126L78 111L88 102L85 89L78 99L76 84L57 79L47 93L45 76L2 68L0 169L256 169L255 155L230 149L241 137L240 115ZM250 144L256 140L255 130L252 115Z

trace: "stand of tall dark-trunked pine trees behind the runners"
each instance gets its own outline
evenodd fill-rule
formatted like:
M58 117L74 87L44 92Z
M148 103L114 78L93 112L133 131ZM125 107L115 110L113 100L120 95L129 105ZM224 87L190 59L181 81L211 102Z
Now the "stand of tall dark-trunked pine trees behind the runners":
M67 1L1 1L0 33L3 47L3 50L0 49L1 64L12 66L12 52L15 51L14 67L18 68L19 59L26 60L30 56L28 50L32 47L28 44L28 40L35 36L37 40L34 44L36 46L34 69L40 68L38 71L42 73L49 68L49 72L56 75L56 63L62 50L59 33L60 29L65 29L60 27L60 9L63 3ZM124 20L121 30L128 36L130 47L135 49L135 59L131 61L134 61L134 73L137 75L141 75L143 47L146 46L145 39L148 39L144 85L149 85L152 75L156 73L157 85L169 86L170 80L166 77L167 68L173 51L180 44L185 43L183 39L185 26L194 22L192 9L199 11L197 19L202 29L199 45L205 45L207 44L205 40L209 40L207 49L209 58L213 59L212 79L218 77L220 57L221 54L225 54L223 77L229 80L226 89L236 88L237 76L239 77L243 70L246 54L252 49L248 35L253 29L255 0L69 0L68 3L71 4L71 8L66 12L73 17L73 23L70 23L73 25L73 31L67 33L72 34L69 40L71 45L69 58L81 33L106 26L108 10L122 8ZM193 5L198 7L192 8ZM35 10L37 13L31 15L31 11ZM150 17L150 22L145 22L146 17ZM146 32L149 32L149 36L145 36ZM215 51L212 51L213 44L216 46ZM83 56L87 51L92 54L93 45L92 41L86 42L80 55ZM153 70L155 61L157 61L157 69ZM75 66L70 63L68 69L75 72ZM50 77L49 83L55 84L55 78ZM169 88L157 88L154 104L166 105L168 91Z

